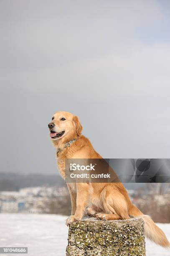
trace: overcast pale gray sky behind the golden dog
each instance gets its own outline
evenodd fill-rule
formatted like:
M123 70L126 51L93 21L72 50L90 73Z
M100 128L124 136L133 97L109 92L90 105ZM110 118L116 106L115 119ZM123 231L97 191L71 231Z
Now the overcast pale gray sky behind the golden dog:
M168 0L0 0L1 172L57 172L47 124L104 158L170 157Z

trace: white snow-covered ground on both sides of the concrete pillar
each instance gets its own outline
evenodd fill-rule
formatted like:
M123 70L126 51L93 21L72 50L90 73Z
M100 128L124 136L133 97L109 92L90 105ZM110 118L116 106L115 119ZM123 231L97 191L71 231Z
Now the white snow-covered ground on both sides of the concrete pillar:
M28 247L28 254L25 254L28 256L65 256L68 233L66 218L61 215L1 213L0 247ZM170 224L158 226L170 240ZM147 256L170 256L170 251L150 241L146 242L146 250Z

